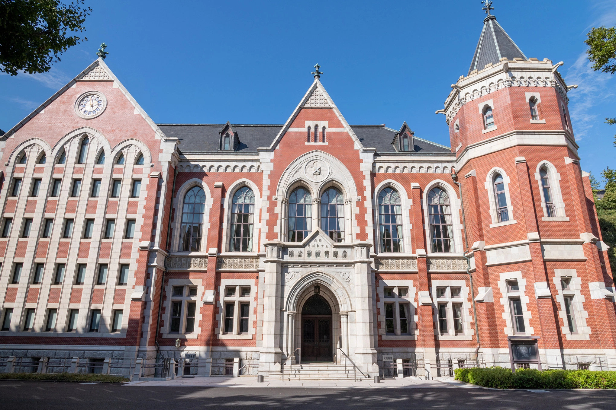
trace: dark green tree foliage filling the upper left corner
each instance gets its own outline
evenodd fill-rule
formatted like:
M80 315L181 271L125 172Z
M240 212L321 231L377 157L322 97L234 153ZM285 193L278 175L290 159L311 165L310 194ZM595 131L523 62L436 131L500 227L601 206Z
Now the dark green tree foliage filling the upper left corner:
M92 11L84 0L0 0L0 71L44 73L68 47L87 41L83 23Z

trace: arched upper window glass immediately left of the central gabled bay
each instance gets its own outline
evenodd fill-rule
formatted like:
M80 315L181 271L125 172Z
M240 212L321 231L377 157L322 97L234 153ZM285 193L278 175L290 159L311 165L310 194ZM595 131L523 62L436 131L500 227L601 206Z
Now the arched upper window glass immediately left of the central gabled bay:
M253 250L254 193L245 186L233 195L231 208L231 246L232 252L251 252Z

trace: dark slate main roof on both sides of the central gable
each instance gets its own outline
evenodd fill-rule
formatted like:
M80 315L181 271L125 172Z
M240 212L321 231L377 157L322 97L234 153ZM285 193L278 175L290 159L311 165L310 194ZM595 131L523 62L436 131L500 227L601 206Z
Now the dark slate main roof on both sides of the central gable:
M156 124L168 137L176 137L179 141L179 150L183 154L198 154L206 152L219 152L219 131L225 124ZM280 132L283 125L256 124L231 125L237 132L240 140L238 149L234 154L256 154L257 148L269 147ZM351 125L351 128L364 147L376 148L377 154L397 154L392 145L397 131L381 125ZM448 154L451 149L440 144L432 143L415 136L415 152L403 152L399 155L425 155Z

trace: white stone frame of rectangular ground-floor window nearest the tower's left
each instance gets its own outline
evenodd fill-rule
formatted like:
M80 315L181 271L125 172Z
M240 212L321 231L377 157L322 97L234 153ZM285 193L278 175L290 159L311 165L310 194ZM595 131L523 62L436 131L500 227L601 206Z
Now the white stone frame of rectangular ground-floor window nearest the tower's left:
M460 288L460 298L436 298L437 288L448 288L447 294L450 294L450 288ZM430 292L432 295L433 311L432 320L436 323L434 328L434 336L438 340L442 341L455 341L455 340L472 340L472 336L475 334L474 329L471 327L472 313L471 313L471 290L466 285L466 280L432 280L430 286ZM439 330L439 302L447 303L447 333L441 335ZM453 328L453 303L462 304L462 333L455 334Z

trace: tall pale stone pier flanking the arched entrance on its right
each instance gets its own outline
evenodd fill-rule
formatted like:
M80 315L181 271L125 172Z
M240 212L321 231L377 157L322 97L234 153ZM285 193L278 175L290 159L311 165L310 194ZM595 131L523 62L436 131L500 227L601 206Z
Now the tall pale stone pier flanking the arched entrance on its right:
M354 325L354 345L353 352L349 356L355 361L364 372L378 374L379 368L376 363L375 337L373 328L373 281L370 259L369 242L355 242L355 294L354 303L355 317ZM352 318L353 319L353 318Z

